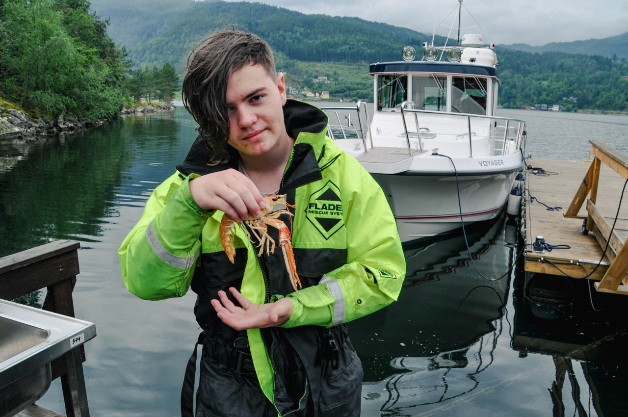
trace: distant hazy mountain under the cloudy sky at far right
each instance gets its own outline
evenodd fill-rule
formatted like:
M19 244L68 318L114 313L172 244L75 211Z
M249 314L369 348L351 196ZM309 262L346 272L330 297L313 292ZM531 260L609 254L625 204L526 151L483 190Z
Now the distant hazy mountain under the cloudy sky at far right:
M551 42L543 46L530 46L526 43L500 45L504 48L526 52L566 52L582 53L584 55L602 55L607 58L628 59L628 32L623 35L611 36L604 39L589 39L574 42Z

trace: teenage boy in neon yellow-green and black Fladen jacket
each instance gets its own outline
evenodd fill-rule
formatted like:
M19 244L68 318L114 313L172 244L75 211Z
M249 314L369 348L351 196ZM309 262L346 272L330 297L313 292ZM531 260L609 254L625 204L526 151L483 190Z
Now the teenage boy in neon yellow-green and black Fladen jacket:
M286 99L272 52L255 35L222 31L198 45L183 102L200 135L119 256L124 283L141 298L190 286L198 295L195 415L359 416L362 364L344 323L396 300L406 269L381 188L326 136L320 109ZM269 210L264 197L279 194L298 291L284 253L266 250L267 239L282 242L278 229L238 225L233 263L220 238L224 215L258 217ZM183 415L192 415L195 359L196 351Z

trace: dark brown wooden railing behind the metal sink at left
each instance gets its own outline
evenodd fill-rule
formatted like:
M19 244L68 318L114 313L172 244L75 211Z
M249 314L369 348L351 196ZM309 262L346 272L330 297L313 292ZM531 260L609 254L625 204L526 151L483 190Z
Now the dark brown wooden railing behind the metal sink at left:
M78 274L78 247L75 241L54 241L0 257L0 298L13 300L46 288L43 309L74 317L72 290ZM83 362L84 345L51 362L52 379L61 378L68 417L89 417ZM51 414L40 411L24 415Z

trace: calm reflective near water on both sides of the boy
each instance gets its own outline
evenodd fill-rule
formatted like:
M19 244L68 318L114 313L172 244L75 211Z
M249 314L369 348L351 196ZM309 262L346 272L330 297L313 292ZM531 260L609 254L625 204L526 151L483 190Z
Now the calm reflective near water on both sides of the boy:
M0 256L53 239L81 243L75 312L98 332L85 347L92 415L180 414L199 332L195 296L130 295L116 250L153 188L185 158L194 128L182 108L129 117L38 142L0 172ZM502 217L470 225L467 236L484 276L509 270L516 225ZM555 285L570 292L561 308L534 303L521 271L482 278L460 234L408 247L406 259L399 301L349 325L364 364L364 417L625 415L625 298L593 291L604 307L595 311L580 280ZM64 413L61 399L55 382L38 404Z

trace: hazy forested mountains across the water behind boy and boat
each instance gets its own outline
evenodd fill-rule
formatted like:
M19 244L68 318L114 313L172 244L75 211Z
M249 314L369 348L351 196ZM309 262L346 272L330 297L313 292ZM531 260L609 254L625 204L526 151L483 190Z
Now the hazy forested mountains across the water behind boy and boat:
M399 60L406 45L420 53L423 42L431 41L431 35L386 23L308 15L261 3L93 0L92 7L109 19L109 34L126 46L138 66L169 61L183 73L188 53L198 41L216 28L235 26L269 42L278 68L288 72L286 79L295 87L327 90L332 97L349 99L372 100L369 63ZM436 44L443 41L436 36ZM505 107L544 103L561 104L567 110L627 111L628 80L624 77L628 65L624 55L617 53L619 58L613 59L602 44L618 52L628 50L625 35L568 44L574 51L581 45L601 55L497 48L501 103ZM313 82L318 76L330 82Z

